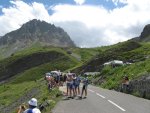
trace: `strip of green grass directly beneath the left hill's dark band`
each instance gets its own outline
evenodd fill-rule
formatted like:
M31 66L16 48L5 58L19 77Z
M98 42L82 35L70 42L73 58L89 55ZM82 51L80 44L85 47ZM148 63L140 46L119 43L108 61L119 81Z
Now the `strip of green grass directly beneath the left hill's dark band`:
M71 59L61 58L55 61L51 61L46 64L42 64L37 67L33 67L23 73L16 75L17 77L12 83L21 83L25 81L35 81L45 76L46 72L50 72L53 70L61 70L65 71L69 68L72 68L77 65L77 62L72 61Z

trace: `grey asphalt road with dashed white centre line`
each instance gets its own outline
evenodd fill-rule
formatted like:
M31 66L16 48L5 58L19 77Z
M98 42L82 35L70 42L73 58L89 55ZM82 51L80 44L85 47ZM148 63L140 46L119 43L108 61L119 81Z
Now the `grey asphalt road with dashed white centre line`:
M150 113L150 100L89 86L86 99L62 99L52 113Z

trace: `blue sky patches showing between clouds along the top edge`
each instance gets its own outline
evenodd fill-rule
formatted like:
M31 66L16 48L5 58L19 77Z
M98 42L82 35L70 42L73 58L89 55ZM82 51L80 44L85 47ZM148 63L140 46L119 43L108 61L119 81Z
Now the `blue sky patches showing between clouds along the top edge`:
M15 1L15 0L11 0L11 1ZM23 0L26 3L33 3L33 2L38 2L38 3L43 3L45 5L45 7L49 7L52 5L57 5L57 4L72 4L72 5L76 5L76 2L73 0ZM113 10L116 7L123 7L126 4L123 3L118 3L118 5L116 6L111 0L107 1L107 0L86 0L84 2L84 5L101 5L105 8L107 8L108 10ZM1 7L10 7L12 6L12 4L10 3L10 0L0 0L0 6ZM49 10L49 13L51 14L51 10ZM2 8L0 10L0 14L2 14Z

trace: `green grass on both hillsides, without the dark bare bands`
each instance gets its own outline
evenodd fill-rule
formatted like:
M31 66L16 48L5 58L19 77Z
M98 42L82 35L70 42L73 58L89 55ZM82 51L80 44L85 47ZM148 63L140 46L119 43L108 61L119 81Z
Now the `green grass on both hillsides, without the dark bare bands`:
M132 44L135 45L130 48ZM72 57L70 54L67 54L68 50L81 56L81 62L77 61L77 59ZM45 81L43 80L44 74L55 69L68 71L80 68L83 64L86 66L86 63L95 59L95 56L96 58L100 58L100 61L107 61L111 58L117 58L119 60L132 59L136 61L136 63L133 63L132 65L116 68L106 66L103 68L101 70L101 74L94 78L98 80L100 76L103 76L104 82L101 84L101 87L103 88L116 89L121 84L124 75L128 75L129 79L132 80L143 76L146 73L150 73L150 59L146 59L146 57L150 56L150 43L139 44L134 42L124 42L98 48L54 48L38 47L37 45L34 45L23 51L14 53L14 55L9 58L1 60L0 68L2 70L3 67L7 69L9 64L12 64L18 59L22 59L30 55L32 56L35 53L47 53L52 51L61 53L62 56L47 63L24 70L23 72L15 75L8 83L0 85L0 106L10 105L32 88L38 87L40 92L36 95L36 98L39 102L42 103L45 100L51 100L52 102L48 111L45 111L44 113L49 112L59 100L59 98L56 98L56 94L60 92L58 89L55 89L52 92L47 90ZM93 63L93 66L95 66L95 63ZM137 94L135 93L135 95Z

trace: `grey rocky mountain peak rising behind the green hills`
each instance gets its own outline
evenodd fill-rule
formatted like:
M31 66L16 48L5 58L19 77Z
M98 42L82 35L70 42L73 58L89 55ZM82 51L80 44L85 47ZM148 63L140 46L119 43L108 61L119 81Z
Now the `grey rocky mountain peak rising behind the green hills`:
M7 33L0 38L0 46L17 43L19 47L24 48L35 42L57 47L75 46L62 28L36 19L23 24L20 29Z

